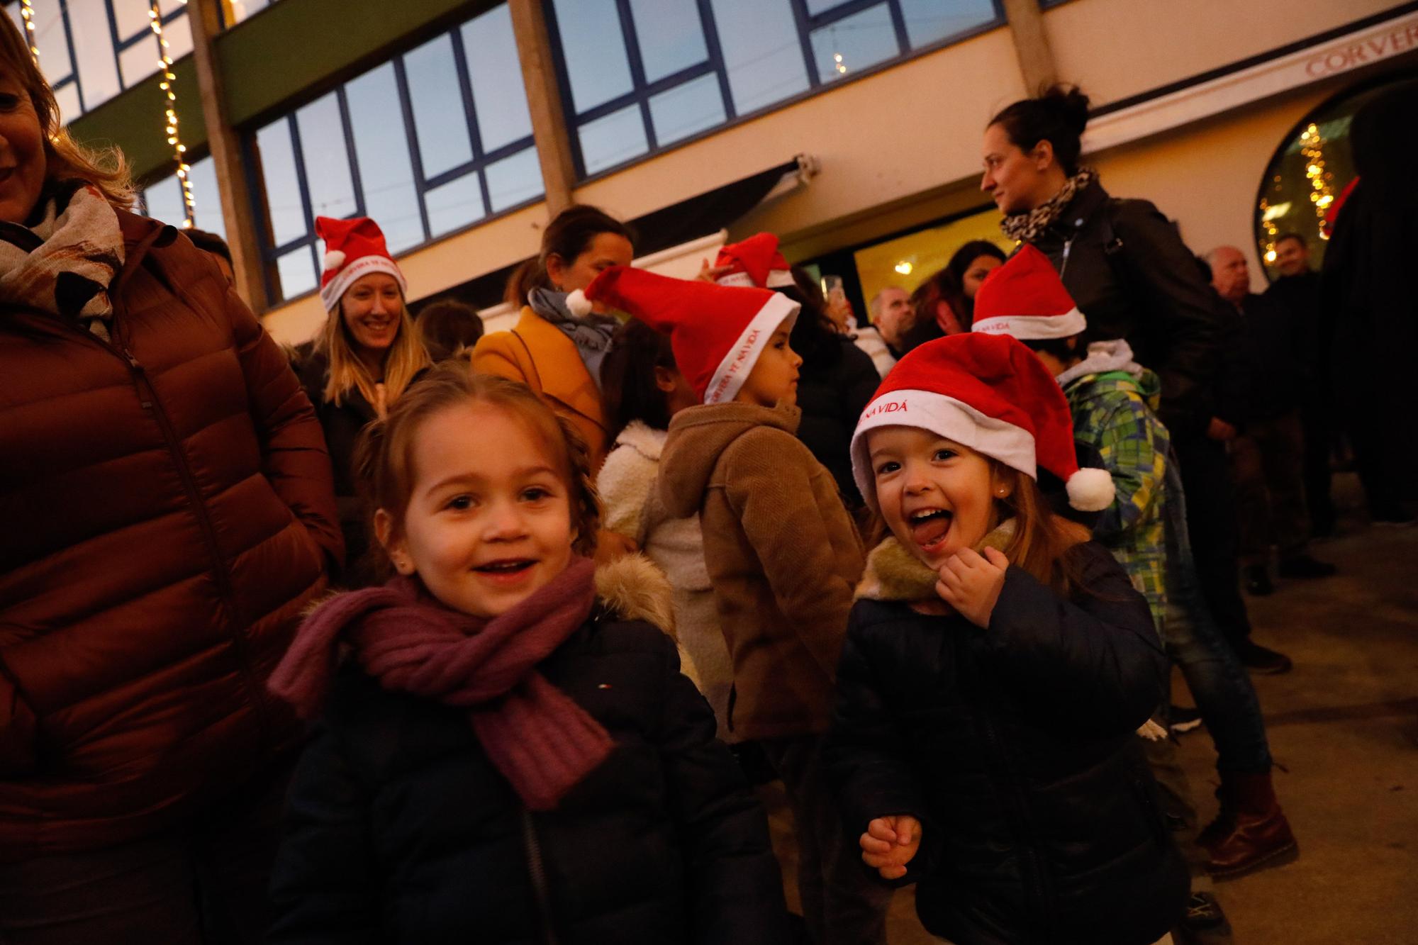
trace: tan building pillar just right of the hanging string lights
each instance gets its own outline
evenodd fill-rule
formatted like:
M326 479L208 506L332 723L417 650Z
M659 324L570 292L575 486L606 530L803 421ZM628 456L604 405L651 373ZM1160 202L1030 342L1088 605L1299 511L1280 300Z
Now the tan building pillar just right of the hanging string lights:
M261 241L257 237L251 187L247 183L241 140L227 118L227 96L221 82L214 40L221 31L221 0L190 0L187 20L191 21L191 52L197 67L197 87L201 91L201 111L207 123L207 145L217 170L221 190L221 219L227 224L227 245L231 247L231 268L237 274L237 294L251 311L267 309ZM197 194L199 199L201 194Z

